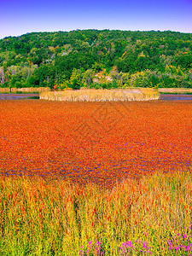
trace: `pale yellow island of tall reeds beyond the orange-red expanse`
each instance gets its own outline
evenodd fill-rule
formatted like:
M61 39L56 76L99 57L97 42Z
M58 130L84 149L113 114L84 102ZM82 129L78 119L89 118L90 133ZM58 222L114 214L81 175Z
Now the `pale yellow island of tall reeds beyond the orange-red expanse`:
M148 101L159 99L159 93L150 88L63 90L42 92L40 99L66 102Z

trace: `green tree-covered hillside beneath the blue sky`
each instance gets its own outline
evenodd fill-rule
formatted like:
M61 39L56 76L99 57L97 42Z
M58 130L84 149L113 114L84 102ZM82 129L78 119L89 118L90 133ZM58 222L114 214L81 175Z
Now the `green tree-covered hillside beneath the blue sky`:
M0 40L0 87L192 88L192 34L82 30Z

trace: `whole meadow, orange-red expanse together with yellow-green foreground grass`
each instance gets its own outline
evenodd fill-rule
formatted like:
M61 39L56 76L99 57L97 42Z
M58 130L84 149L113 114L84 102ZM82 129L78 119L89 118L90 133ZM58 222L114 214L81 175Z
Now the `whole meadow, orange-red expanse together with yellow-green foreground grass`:
M192 103L0 102L1 255L191 255Z

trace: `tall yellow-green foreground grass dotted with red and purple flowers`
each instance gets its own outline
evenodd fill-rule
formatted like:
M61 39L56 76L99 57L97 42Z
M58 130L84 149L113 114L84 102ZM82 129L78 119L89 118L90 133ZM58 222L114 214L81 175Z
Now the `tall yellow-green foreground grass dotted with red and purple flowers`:
M191 172L112 190L1 177L0 255L192 255Z

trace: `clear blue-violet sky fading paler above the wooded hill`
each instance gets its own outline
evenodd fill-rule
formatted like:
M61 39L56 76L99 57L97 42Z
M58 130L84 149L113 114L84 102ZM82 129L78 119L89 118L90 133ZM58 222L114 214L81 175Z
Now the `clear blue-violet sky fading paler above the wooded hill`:
M192 0L0 0L0 38L89 28L192 32Z

